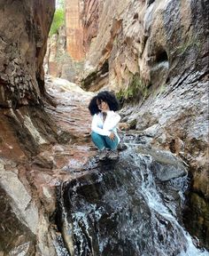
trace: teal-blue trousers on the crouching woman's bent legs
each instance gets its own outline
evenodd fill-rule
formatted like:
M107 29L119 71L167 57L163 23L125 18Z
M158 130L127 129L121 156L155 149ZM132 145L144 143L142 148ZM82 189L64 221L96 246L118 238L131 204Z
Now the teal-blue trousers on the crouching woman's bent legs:
M108 136L91 132L91 139L99 150L104 148L116 149L119 145L119 139L116 136L114 136L114 140L111 140Z

